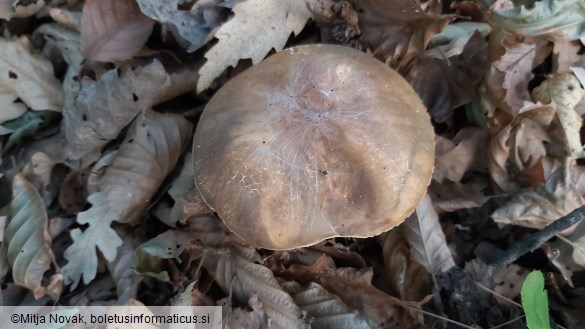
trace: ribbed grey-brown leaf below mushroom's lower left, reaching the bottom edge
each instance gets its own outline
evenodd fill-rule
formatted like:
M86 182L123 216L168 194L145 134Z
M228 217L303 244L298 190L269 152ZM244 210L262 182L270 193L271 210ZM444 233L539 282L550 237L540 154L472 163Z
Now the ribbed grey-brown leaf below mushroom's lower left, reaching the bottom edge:
M257 295L271 327L310 328L310 319L282 290L274 273L261 264L255 249L234 246L227 253L208 253L203 266L228 295L243 305Z

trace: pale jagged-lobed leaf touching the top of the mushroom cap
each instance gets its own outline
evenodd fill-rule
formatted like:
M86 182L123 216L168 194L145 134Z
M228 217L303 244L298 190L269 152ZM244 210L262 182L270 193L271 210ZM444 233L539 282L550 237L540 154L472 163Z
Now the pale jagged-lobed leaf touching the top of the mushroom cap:
M219 41L206 54L199 70L197 92L209 86L226 68L240 59L259 63L274 48L284 48L291 33L298 35L312 17L309 8L316 0L248 0L232 10L234 17L222 25L214 37Z

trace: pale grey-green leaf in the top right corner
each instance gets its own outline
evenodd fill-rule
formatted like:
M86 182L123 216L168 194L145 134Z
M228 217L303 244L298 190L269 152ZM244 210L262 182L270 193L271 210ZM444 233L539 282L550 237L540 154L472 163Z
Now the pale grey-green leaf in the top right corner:
M514 7L498 10L496 1L490 15L493 23L526 36L546 36L551 40L577 40L585 37L585 1L516 0Z

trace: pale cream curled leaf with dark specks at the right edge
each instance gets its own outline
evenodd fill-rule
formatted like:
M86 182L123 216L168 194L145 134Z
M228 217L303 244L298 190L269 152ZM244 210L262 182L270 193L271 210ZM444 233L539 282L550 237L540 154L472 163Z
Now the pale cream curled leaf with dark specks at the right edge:
M542 82L532 92L534 99L556 106L556 113L564 132L564 141L567 153L571 157L583 155L581 144L581 116L575 112L575 106L585 96L585 89L579 80L570 72L557 74Z

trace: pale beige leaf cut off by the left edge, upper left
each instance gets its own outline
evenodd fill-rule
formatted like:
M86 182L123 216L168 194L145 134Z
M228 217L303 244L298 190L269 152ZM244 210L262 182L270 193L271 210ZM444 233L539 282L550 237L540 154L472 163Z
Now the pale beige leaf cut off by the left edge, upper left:
M0 38L0 68L0 118L6 115L4 107L11 113L22 111L13 104L17 98L32 110L62 111L63 90L53 75L53 65L32 52L26 37Z

